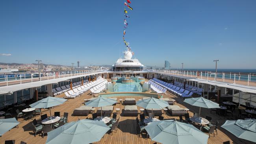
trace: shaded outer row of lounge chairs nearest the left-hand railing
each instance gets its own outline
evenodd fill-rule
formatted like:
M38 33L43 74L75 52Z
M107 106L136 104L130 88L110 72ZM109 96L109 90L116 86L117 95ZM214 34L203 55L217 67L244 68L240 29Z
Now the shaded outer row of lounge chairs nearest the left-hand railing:
M89 81L87 79L84 81L84 84L86 84L86 83L89 83ZM74 88L80 87L81 85L82 85L82 81L72 83L72 88L74 89ZM70 90L70 85L63 85L61 87L56 87L56 88L52 89L52 92L54 93L53 94L54 96L57 96L59 94L67 92L69 90Z

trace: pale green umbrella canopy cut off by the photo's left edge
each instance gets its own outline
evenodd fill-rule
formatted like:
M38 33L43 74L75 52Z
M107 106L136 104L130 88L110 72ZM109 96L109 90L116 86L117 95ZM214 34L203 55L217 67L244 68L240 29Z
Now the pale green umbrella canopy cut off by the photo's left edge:
M16 120L16 118L0 119L0 136L4 135L4 133L18 124L19 122Z

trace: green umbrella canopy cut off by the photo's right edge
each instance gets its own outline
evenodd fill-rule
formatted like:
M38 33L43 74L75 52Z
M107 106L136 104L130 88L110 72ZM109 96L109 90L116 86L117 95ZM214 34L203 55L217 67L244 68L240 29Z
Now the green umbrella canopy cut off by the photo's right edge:
M221 127L238 138L256 142L256 120L226 120Z

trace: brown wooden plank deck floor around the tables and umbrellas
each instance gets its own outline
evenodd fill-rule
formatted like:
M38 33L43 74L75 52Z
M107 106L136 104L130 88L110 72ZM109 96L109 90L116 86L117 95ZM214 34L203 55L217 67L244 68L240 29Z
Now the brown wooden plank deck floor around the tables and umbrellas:
M175 103L176 105L179 105L180 107L184 107L184 108L187 107L188 109L190 109L189 111L190 116L193 116L193 112L199 111L198 107L194 107L189 104L186 104L183 102L181 98L176 98L172 94L168 93L167 95L164 95L164 97L174 98L176 100L176 103ZM80 119L85 119L87 117L91 118L92 117L91 114L89 114L88 116L71 116L73 110L83 105L83 100L88 98L91 98L91 96L88 94L83 94L82 96L76 99L69 99L67 100L67 102L63 103L62 105L54 107L54 109L52 109L52 113L54 113L54 111L60 111L62 116L64 112L68 112L69 122L76 121L78 120L78 118ZM117 97L117 100L119 102L119 99L124 99L124 98L127 98L127 97L125 96ZM139 100L141 99L141 97L135 96L135 99ZM115 112L115 108L123 109L124 106L121 105L120 103L117 103L117 105L114 106L113 112ZM139 108L140 107L138 107L138 111L139 111ZM48 114L48 116L50 115L48 110L46 109L45 110L42 109L42 110L43 110L42 114ZM220 125L222 125L225 120L234 119L234 117L231 117L231 116L226 116L224 118L223 116L218 116L217 114L211 114L209 109L202 108L201 116L205 117L206 115L213 117L213 122L215 122L216 120L219 120ZM178 119L178 117L170 116L168 113L163 116L165 119L171 119L171 118ZM138 135L136 135L136 121L135 121L136 117L128 117L128 116L123 117L123 116L120 116L119 114L118 114L118 117L120 117L120 121L119 121L119 128L117 129L117 132L116 133L113 132L112 135L109 135L109 134L104 135L104 137L99 142L95 142L96 144L152 144L154 143L154 141L152 141L150 138L146 138L145 135L143 135L143 137L138 137ZM35 118L39 120L40 116L38 115ZM33 136L32 120L25 121L22 118L19 118L19 122L20 122L19 128L13 128L7 133L5 133L4 135L2 135L2 137L0 138L0 144L4 144L5 140L16 140L17 144L19 144L20 141L27 142L28 144L45 144L47 136L45 136L44 138L39 136L39 134L37 134L36 137ZM215 137L213 137L213 135L211 134L211 137L208 139L208 144L222 144L224 141L227 141L227 140L230 140L231 144L232 142L234 144L252 144L249 141L236 138L234 135L230 134L224 129L221 129L221 127L219 127L218 129L218 135L216 135L215 133Z

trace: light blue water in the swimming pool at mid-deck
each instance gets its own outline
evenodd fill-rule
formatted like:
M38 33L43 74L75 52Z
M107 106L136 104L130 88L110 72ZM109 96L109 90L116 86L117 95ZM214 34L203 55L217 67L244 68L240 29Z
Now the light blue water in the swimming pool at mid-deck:
M115 83L114 92L142 92L140 83Z

